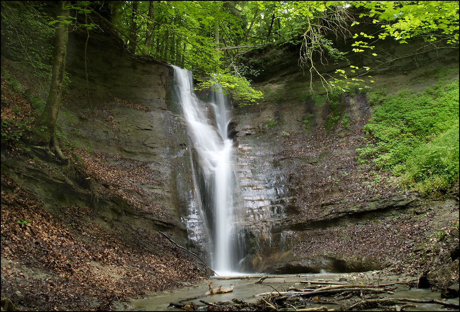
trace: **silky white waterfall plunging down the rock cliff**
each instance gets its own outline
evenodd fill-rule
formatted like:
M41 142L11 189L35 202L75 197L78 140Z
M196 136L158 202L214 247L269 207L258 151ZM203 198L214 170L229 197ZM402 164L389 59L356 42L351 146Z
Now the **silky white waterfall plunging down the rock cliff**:
M211 90L210 105L193 92L191 72L174 66L175 91L182 107L192 142L192 168L195 200L202 209L203 224L210 233L210 258L219 275L233 275L244 255L243 235L236 219L235 162L233 140L228 138L227 97L217 85Z

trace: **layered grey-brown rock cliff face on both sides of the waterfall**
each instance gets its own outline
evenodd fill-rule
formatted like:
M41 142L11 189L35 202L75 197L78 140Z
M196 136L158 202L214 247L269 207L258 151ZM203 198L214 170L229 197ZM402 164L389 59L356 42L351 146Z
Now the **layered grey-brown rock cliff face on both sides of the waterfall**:
M75 94L86 92L84 59L77 52L84 39L76 37L68 55ZM172 69L162 62L134 58L107 37L95 34L89 43L90 101L77 100L83 109L68 108L78 116L68 130L80 129L75 139L90 150L153 162L155 183L141 187L161 213L128 209L121 213L123 218L167 229L204 255L200 242L205 231L191 205L187 133L171 93ZM388 59L410 50L385 47ZM338 107L321 93L313 101L307 77L295 64L297 54L291 52L292 57L281 64L282 72L271 73L268 69L279 66L267 65L267 73L256 83L266 95L264 102L234 112L246 269L301 273L403 268L417 251L422 255L429 235L456 220L458 199L452 194L422 198L398 190L387 173L358 163L356 149L364 146L361 129L373 107L359 93L339 95ZM374 87L387 87L391 93L403 87L421 91L436 82L428 71L446 62L458 63L455 53L423 57L417 61L430 63L429 68L417 68L410 57L390 62L390 71L385 67L374 73ZM455 237L449 244L455 245Z

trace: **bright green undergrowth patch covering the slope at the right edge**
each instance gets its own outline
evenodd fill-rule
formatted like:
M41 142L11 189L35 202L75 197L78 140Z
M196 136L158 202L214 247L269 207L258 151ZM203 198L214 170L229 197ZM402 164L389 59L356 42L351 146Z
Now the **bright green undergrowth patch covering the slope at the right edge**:
M376 107L363 130L373 143L358 148L358 161L401 175L401 184L422 193L446 190L458 180L458 79L421 93L376 92Z

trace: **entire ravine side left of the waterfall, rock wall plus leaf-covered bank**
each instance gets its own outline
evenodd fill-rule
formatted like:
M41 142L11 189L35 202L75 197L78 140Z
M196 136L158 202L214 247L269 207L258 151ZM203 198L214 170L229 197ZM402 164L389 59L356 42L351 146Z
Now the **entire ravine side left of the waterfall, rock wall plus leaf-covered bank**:
M192 185L185 127L166 100L172 69L93 32L86 76L85 40L70 34L58 120L71 162L2 141L2 297L20 309L112 309L206 276L158 233L188 247ZM4 75L38 88L22 69L2 57L2 121L33 109Z

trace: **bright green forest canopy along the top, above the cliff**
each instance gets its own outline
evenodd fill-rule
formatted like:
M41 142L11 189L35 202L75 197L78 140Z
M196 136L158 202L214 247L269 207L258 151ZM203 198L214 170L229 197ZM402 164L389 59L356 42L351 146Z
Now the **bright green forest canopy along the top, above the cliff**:
M347 76L337 68L331 76L322 71L322 65L342 60L353 68L347 55L377 56L372 50L379 40L407 43L417 38L432 47L458 48L458 3L452 1L77 1L67 5L74 31L95 30L102 19L132 54L193 70L201 87L217 81L240 105L262 97L248 79L257 76L257 69L241 61L250 50L295 46L299 64L312 82L319 80L328 90L344 91L360 82L352 79L356 71ZM47 42L57 25L57 19L46 14L50 6L46 2L2 3L2 42L16 42L17 46L6 47L8 51L25 54L37 68L49 64L44 60L51 58L49 44L41 44L46 51L34 51L40 44L26 47L23 41L26 33L35 32L35 38ZM352 44L339 49L339 40Z

